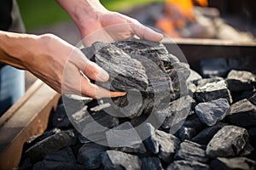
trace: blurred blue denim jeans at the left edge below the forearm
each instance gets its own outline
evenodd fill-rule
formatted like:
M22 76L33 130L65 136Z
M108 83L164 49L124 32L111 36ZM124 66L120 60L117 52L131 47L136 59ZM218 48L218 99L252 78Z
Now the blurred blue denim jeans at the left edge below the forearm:
M0 69L0 116L25 93L25 72L4 65Z

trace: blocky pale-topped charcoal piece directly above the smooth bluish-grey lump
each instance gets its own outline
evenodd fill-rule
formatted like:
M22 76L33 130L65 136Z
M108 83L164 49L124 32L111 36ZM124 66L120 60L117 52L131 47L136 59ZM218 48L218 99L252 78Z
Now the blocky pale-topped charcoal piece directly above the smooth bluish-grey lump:
M225 81L209 82L202 86L197 86L195 98L199 102L207 102L213 99L224 98L232 103L230 90L227 88Z

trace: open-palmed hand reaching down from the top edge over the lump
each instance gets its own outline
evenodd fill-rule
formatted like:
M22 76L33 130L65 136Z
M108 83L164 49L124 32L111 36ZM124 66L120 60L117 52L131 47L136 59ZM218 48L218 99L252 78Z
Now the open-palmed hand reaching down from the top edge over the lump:
M124 14L108 11L98 0L56 0L79 27L85 45L92 42L117 42L135 35L160 41L163 35Z

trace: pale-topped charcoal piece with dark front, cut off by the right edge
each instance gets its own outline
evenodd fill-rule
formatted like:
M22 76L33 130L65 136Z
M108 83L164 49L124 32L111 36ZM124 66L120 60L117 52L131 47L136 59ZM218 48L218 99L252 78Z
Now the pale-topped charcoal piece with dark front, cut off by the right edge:
M253 90L253 82L255 77L249 71L230 71L226 82L231 92L241 92Z

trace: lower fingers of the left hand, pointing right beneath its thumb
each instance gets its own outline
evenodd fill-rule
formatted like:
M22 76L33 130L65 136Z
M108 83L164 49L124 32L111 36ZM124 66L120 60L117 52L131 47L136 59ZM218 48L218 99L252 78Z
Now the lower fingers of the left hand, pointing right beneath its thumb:
M94 99L115 98L124 96L125 92L110 92L105 88L101 88L96 84L91 83L88 79L81 77L81 94Z

